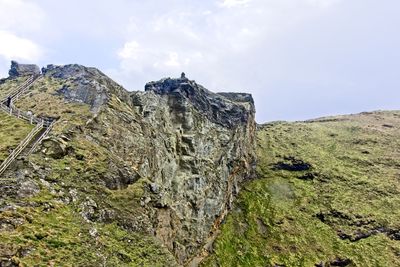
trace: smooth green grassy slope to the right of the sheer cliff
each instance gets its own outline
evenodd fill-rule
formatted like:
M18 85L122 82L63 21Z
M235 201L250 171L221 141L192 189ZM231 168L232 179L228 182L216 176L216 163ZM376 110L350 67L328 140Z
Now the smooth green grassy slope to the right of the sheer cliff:
M399 147L400 112L264 125L259 179L204 265L400 266ZM282 170L296 163L311 168Z

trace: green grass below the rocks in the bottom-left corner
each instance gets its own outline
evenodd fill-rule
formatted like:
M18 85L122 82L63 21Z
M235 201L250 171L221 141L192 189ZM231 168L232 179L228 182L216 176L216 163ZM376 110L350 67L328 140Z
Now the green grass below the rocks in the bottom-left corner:
M20 266L173 266L173 257L154 237L117 224L88 223L43 190L35 207L2 212L0 220L19 221L0 232L0 251L14 251Z

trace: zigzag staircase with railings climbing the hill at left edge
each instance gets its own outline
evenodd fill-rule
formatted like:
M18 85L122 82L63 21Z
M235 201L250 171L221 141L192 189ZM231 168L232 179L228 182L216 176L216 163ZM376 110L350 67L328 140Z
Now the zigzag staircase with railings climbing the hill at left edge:
M7 168L21 155L29 156L43 141L43 139L51 131L55 120L44 119L34 116L30 112L22 111L15 106L11 105L8 107L4 103L9 97L11 97L11 103L14 103L19 97L28 91L31 85L36 81L39 76L31 76L21 86L14 90L9 96L0 102L0 110L7 112L10 116L14 116L18 119L34 124L35 127L32 131L22 140L19 145L10 153L10 155L0 165L0 177L4 174ZM2 179L0 179L1 181ZM9 179L8 179L9 180Z

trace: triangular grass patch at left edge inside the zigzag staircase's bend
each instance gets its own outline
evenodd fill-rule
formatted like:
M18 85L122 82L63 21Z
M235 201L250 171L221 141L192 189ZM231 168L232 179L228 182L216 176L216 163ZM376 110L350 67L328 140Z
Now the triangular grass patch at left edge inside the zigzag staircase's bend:
M33 125L0 111L0 162L7 158L32 129Z

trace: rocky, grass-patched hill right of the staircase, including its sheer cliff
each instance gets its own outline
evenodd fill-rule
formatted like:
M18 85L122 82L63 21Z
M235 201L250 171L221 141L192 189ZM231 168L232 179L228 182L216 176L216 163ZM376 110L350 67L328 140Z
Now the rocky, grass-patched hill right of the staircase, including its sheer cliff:
M201 253L253 174L251 96L185 77L128 92L94 68L42 72L14 104L57 123L5 174L16 181L0 189L0 265L174 266Z

